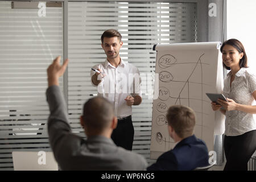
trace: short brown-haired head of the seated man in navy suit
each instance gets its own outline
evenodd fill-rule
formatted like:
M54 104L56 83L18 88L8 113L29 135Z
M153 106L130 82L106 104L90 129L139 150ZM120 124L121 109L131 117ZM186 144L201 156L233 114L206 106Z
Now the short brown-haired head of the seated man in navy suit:
M196 124L195 112L182 105L169 107L167 114L168 125L170 125L180 138L187 138L193 134Z

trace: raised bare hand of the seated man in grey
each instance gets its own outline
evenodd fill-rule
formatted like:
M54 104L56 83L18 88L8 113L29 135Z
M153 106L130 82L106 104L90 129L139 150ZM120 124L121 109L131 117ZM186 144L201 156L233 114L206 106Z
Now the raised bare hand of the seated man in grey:
M48 86L59 86L59 77L61 77L68 65L68 59L66 59L63 65L60 65L60 56L53 60L52 64L47 68Z

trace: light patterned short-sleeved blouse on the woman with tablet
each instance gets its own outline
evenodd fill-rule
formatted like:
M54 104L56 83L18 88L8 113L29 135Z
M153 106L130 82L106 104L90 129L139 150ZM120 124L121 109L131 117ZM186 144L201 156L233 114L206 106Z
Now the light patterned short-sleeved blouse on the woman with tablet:
M233 99L238 104L252 105L254 101L252 93L256 90L256 76L249 73L248 69L241 68L236 73L231 88L230 77L231 72L224 79L224 96ZM251 130L256 130L253 114L226 110L225 135L237 136Z

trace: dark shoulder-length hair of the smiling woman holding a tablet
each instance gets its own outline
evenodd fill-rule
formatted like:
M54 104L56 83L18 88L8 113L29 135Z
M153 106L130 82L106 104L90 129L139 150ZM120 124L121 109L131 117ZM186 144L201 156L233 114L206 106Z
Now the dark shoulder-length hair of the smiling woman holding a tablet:
M248 67L247 67L247 56L246 56L245 48L243 47L243 44L242 44L239 40L237 40L237 39L229 39L229 40L226 40L226 41L222 44L222 46L221 46L221 48L220 48L221 53L222 53L222 50L223 50L223 48L224 48L225 45L229 45L229 46L232 46L232 47L236 48L239 53L242 53L242 52L243 52L243 57L242 57L242 59L240 60L239 65L240 65L240 68L248 68ZM222 64L223 64L223 66L224 66L226 69L230 70L230 68L227 67L223 62L222 62Z

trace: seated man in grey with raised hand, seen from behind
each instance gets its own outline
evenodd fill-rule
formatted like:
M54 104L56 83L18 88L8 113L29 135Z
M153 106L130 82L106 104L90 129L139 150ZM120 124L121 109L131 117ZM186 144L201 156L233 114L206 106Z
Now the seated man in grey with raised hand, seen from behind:
M68 112L59 88L68 59L60 65L60 56L47 69L46 91L50 115L49 143L57 163L63 170L144 170L143 156L117 147L110 138L117 126L112 104L102 97L89 99L80 118L87 140L75 135L68 123Z

